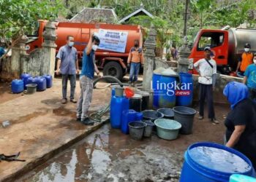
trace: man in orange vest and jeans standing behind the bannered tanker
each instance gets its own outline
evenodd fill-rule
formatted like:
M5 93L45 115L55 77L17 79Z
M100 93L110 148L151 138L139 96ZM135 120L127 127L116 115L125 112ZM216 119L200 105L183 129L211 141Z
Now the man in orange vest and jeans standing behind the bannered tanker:
M130 67L129 69L129 84L135 84L138 81L138 74L140 71L140 64L141 68L143 68L143 50L139 47L139 41L135 40L135 46L129 52L129 57L127 60L127 66Z

